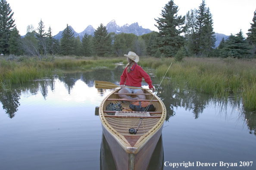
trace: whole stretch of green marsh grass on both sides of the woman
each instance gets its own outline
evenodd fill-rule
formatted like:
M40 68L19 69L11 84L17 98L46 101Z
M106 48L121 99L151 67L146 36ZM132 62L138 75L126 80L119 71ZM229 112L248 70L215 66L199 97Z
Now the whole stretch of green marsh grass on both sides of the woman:
M0 88L11 83L26 82L51 76L53 70L63 68L114 69L115 63L127 63L126 58L77 58L56 57L54 62L38 61L33 58L17 58L15 61L0 59ZM244 106L256 109L256 60L220 58L185 58L175 62L172 58L141 57L139 65L156 69L156 76L167 79L163 85L173 85L213 94L216 97L243 99Z

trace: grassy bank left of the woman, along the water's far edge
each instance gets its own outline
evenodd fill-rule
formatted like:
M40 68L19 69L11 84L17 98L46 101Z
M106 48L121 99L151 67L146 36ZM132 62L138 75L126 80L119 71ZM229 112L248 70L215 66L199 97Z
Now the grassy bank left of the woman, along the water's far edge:
M115 63L125 58L56 57L53 62L26 56L0 58L0 89L7 89L12 83L28 82L52 76L53 70L65 68L114 69Z

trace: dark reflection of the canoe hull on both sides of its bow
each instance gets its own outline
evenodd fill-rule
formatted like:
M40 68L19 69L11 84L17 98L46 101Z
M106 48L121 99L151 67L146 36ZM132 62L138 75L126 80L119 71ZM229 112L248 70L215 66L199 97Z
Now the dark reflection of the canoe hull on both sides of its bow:
M147 170L163 170L164 167L164 152L162 144L162 135L160 136L156 148L151 157ZM100 170L116 170L116 165L109 145L104 134L100 146Z

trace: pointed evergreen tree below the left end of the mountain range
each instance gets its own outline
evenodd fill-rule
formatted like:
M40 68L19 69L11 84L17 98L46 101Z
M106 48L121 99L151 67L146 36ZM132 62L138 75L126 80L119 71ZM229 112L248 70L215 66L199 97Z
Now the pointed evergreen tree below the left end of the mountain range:
M67 24L67 27L62 32L62 38L60 39L60 47L62 49L63 55L73 55L74 54L74 45L75 37L71 28Z

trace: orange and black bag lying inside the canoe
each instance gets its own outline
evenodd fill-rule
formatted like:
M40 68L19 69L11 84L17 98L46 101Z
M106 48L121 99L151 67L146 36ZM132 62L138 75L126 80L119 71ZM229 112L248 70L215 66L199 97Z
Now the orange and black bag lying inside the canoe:
M130 108L136 112L155 112L156 108L151 103L145 101L137 101L130 104Z

